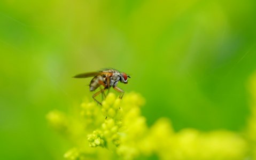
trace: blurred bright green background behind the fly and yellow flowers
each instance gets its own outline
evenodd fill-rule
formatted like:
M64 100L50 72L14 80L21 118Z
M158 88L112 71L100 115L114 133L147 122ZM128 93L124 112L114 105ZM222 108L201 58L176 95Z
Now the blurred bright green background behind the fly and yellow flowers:
M1 1L1 159L63 159L45 120L91 97L75 74L113 67L146 98L149 125L240 131L256 70L256 2Z

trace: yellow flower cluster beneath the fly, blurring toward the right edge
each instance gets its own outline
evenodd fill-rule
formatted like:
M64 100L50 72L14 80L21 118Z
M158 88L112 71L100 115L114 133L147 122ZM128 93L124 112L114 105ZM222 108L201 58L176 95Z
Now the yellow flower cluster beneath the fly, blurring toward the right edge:
M122 100L109 93L102 106L86 100L73 115L55 110L46 118L73 142L66 159L256 159L256 76L250 89L252 116L241 132L175 132L168 118L148 126L141 115L145 100L137 93L128 93Z

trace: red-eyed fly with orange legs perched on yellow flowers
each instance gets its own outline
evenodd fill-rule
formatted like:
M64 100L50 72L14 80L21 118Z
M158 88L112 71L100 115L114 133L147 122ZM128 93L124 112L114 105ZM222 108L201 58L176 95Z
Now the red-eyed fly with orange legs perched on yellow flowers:
M125 94L125 91L121 90L119 87L117 87L118 82L120 81L121 83L128 83L128 77L130 78L129 75L126 73L120 73L120 71L115 70L115 69L105 69L105 70L100 70L100 71L94 71L94 72L89 72L89 73L82 73L75 75L74 78L88 78L88 77L94 77L91 79L90 82L90 91L95 91L99 86L103 86L103 89L100 89L98 92L96 92L94 95L92 95L92 98L102 105L95 97L102 93L105 95L105 90L110 89L110 87L113 87L114 90L120 92L120 97L122 99L123 94Z

